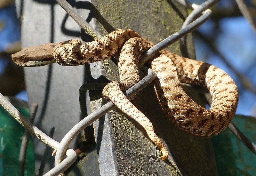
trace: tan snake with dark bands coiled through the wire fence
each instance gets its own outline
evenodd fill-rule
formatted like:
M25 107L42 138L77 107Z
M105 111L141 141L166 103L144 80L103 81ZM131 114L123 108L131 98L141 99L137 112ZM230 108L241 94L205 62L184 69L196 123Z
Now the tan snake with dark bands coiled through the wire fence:
M165 160L169 155L168 150L156 135L153 124L123 93L140 81L140 56L154 45L131 29L119 29L84 44L79 39L71 39L26 47L12 54L12 60L23 67L55 62L63 66L76 66L119 56L119 81L108 83L102 94L146 130L149 139L162 152L159 158ZM227 128L235 115L239 96L234 80L226 72L166 49L157 53L147 64L156 73L154 88L160 107L166 118L178 128L200 137L212 137ZM194 102L182 89L180 82L207 88L212 95L210 109Z

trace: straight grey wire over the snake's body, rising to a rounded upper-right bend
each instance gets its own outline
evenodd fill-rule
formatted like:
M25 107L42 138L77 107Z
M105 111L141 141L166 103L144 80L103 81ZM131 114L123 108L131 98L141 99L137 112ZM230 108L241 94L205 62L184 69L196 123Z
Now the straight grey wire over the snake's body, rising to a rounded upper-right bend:
M161 51L162 49L166 48L167 46L171 45L172 43L176 42L180 38L186 36L189 32L194 31L196 28L198 28L200 25L202 25L205 21L207 21L212 14L212 11L210 9L207 9L203 12L203 14L197 18L195 21L184 27L183 29L180 29L178 32L175 32L168 38L162 40L155 46L148 49L148 51L144 52L142 54L142 58L138 64L138 67L140 68L143 66L149 58L154 56L157 52Z

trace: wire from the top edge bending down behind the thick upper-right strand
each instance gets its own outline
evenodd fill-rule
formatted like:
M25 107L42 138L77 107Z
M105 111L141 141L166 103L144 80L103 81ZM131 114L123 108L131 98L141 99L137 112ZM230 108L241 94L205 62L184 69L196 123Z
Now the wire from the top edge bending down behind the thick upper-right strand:
M210 6L218 3L220 0L207 0L204 3L200 4L196 9L194 9L184 21L182 28L185 28L188 24L190 24L197 16L199 16L203 11L208 9ZM183 37L180 39L180 51L183 57L189 58L188 50L187 50L187 37Z

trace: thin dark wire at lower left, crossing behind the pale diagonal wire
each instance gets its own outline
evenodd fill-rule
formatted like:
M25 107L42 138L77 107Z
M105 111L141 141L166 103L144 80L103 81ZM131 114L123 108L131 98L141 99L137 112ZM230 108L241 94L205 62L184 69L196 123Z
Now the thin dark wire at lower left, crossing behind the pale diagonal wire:
M38 104L32 103L30 107L28 121L32 124L34 123L36 111ZM22 137L21 146L20 146L20 156L19 156L19 167L20 167L20 176L24 175L25 171L25 163L26 163L26 155L28 149L28 141L29 141L30 133L27 129L24 130L24 135Z

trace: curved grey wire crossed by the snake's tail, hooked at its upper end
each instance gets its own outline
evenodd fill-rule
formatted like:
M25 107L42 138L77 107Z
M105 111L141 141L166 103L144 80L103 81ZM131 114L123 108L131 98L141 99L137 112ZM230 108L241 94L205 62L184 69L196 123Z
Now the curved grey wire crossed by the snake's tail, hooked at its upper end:
M147 70L148 75L125 92L127 98L130 98L133 95L135 95L137 92L145 88L150 82L152 82L155 79L156 74L152 69L147 67L143 67L142 69L145 71ZM68 133L61 140L60 146L57 149L55 156L55 166L61 162L62 158L64 157L65 151L68 148L68 145L76 137L77 134L79 134L84 128L86 128L92 122L94 122L101 116L104 116L106 113L108 113L111 109L114 108L115 105L112 102L108 102L107 104L103 105L102 107L94 111L92 114L85 117L83 120L77 123L71 130L69 130Z

